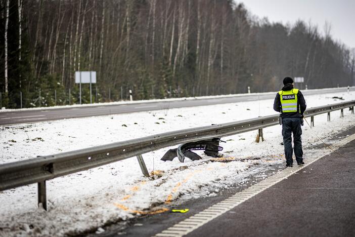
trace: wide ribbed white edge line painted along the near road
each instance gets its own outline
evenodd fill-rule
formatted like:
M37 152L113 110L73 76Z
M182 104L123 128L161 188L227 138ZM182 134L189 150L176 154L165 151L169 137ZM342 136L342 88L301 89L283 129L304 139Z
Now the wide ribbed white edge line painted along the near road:
M347 138L344 138L343 140L340 140L337 142L336 145L333 144L333 147L335 148L334 150L337 150L339 147L344 146L345 144L349 143L350 141L355 140L355 134L352 134L351 136L348 136ZM323 157L323 156L322 156ZM294 166L294 167L289 167L286 168L282 171L279 171L275 174L275 176L270 176L268 178L265 178L264 180L258 182L255 184L258 188L254 188L254 185L244 189L243 191L237 192L234 195L232 195L230 198L225 199L224 201L221 201L217 204L212 205L211 207L185 219L180 221L179 223L176 223L175 225L167 228L166 230L163 230L160 233L155 234L154 236L184 236L195 229L199 228L200 226L208 223L209 221L213 220L214 218L230 211L231 209L237 207L239 204L245 202L246 200L252 198L256 194L262 192L263 190L268 189L269 187L277 184L278 182L287 179L289 176L293 175L294 173L297 173L298 171L302 170L303 168L307 167L308 165L314 163L315 161L318 161L322 157L316 157L312 159L307 159L303 160L304 165L303 166ZM260 188L262 187L262 188ZM218 210L214 213L211 213L211 210ZM189 226L185 226L185 224L189 223ZM175 228L179 228L179 231L172 231Z

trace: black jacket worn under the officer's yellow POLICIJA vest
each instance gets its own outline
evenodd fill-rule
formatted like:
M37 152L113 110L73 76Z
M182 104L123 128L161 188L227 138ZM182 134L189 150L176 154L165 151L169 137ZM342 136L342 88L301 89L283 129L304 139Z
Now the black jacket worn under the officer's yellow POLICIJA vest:
M290 91L293 89L292 84L286 84L281 90L282 91ZM281 113L283 118L285 117L301 117L303 115L304 110L306 109L307 105L305 103L304 97L301 91L297 93L297 112L282 112L281 100L279 93L276 94L275 101L274 101L274 110Z

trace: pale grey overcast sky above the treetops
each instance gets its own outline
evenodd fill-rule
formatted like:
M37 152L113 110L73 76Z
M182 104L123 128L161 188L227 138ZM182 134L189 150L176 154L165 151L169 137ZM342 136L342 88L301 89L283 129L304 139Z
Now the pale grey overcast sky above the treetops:
M318 25L324 35L324 23L331 23L333 39L355 48L355 0L240 0L259 18L270 22L290 23L298 19Z

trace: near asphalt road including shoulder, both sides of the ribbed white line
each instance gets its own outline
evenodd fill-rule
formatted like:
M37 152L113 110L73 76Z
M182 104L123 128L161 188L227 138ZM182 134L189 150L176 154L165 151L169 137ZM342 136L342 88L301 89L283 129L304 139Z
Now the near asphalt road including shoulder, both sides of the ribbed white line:
M334 138L354 133L352 127ZM352 140L337 150L345 157L334 152L326 155L186 236L355 236L354 147ZM274 168L285 169L284 164ZM250 180L249 184L258 181ZM141 217L88 236L153 236L245 188L236 186L176 206L189 208L186 214Z

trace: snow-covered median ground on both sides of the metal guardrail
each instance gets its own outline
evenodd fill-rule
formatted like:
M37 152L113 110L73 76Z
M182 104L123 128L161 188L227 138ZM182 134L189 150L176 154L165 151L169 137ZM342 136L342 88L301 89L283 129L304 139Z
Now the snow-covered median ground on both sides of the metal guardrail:
M355 92L305 96L307 107L354 100ZM0 127L0 164L85 147L108 144L173 130L207 126L275 114L273 100L219 104L85 117ZM304 159L322 156L329 150L314 149L320 138L354 126L354 115L344 110L315 117L315 127L302 127ZM310 122L310 120L308 120ZM151 178L144 177L135 157L47 182L49 212L37 208L35 184L0 192L0 235L53 236L95 230L105 223L136 215L154 214L176 202L218 195L222 188L248 182L284 163L281 126L263 130L264 142L256 143L256 131L224 137L224 157L180 163L160 158L172 147L144 154ZM331 142L331 141L329 141ZM335 145L335 144L334 144Z

